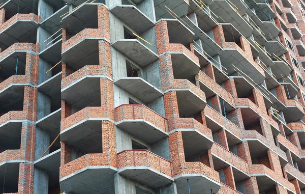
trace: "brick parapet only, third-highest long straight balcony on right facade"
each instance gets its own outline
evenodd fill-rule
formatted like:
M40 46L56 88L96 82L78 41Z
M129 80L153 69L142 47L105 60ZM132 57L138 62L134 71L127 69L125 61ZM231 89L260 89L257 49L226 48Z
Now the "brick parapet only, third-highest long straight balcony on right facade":
M211 148L212 155L216 155L223 160L229 162L234 166L234 168L237 168L241 171L243 171L246 174L249 174L249 164L247 161L241 159L237 155L233 154L226 148L222 147L221 145L214 143Z

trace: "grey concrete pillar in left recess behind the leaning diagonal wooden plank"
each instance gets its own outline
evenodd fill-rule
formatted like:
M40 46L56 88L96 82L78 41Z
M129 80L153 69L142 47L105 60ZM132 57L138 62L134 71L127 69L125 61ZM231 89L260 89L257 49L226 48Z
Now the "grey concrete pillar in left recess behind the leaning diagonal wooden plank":
M44 129L36 127L35 160L38 160L50 146L50 133ZM45 155L48 155L50 150Z

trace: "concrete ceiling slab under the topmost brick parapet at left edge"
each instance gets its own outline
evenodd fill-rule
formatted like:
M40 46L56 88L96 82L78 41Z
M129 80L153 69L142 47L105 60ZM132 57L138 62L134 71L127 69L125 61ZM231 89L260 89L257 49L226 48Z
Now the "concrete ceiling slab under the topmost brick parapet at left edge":
M36 43L38 23L28 20L17 20L0 32L0 42L3 49L16 42Z

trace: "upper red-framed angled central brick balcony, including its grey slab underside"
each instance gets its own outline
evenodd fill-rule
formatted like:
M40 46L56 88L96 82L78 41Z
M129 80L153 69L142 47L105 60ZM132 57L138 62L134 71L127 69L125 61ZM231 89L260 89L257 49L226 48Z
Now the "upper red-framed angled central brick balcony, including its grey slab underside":
M153 144L168 136L167 120L143 104L122 104L115 108L116 126Z

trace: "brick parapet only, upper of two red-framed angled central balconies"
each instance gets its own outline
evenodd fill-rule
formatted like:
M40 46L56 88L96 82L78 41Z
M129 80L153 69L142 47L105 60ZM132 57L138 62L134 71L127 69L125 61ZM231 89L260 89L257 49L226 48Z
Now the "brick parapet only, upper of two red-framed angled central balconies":
M163 131L168 131L167 119L143 104L122 104L115 108L115 121L143 119Z

